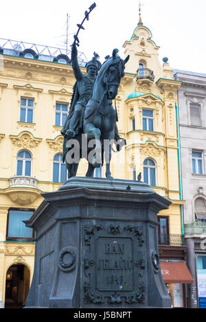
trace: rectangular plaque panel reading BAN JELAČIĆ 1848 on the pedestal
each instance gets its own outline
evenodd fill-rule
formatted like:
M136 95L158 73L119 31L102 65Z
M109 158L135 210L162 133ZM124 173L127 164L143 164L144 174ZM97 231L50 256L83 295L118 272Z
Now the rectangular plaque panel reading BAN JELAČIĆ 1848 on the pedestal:
M133 290L133 240L99 237L95 244L98 290Z

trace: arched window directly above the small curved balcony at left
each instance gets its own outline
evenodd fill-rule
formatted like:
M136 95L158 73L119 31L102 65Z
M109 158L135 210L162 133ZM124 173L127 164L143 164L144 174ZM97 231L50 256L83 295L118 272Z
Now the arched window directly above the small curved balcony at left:
M32 172L32 155L25 150L17 154L17 176L31 176Z

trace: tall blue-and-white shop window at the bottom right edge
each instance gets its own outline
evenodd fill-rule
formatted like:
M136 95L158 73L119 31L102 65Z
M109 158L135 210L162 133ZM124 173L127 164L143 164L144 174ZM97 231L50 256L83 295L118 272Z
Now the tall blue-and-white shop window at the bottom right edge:
M196 257L199 308L206 308L206 256Z

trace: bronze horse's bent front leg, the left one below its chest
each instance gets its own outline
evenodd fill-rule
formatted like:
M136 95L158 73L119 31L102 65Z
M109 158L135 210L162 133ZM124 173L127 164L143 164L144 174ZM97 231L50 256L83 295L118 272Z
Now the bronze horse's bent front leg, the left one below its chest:
M94 168L100 168L102 160L102 145L100 142L101 131L90 123L85 126L84 133L87 134L88 139L90 139L89 148L93 148L93 146L95 146L94 150L88 154L88 161ZM92 141L92 139L94 141Z

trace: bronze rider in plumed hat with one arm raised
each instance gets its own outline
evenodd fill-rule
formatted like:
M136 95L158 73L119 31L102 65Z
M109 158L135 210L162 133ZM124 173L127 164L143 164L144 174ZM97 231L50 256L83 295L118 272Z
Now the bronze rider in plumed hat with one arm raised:
M95 56L92 60L87 62L87 76L85 76L82 71L80 71L77 54L76 43L73 43L71 49L71 66L76 78L76 84L73 89L73 98L71 100L69 115L61 131L62 135L65 135L67 139L71 139L78 134L82 110L92 95L95 78L102 66L97 59L99 57L98 54L94 53Z

